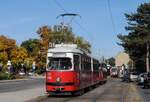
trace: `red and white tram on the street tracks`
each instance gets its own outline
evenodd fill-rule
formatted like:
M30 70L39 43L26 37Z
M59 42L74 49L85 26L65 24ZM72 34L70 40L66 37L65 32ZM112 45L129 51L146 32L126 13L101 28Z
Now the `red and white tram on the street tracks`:
M75 44L59 44L48 50L46 91L76 93L104 81L98 60Z

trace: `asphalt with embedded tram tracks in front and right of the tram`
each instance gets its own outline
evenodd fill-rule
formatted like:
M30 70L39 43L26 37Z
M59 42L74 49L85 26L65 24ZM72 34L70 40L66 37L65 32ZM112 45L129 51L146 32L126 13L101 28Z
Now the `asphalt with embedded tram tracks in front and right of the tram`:
M127 85L119 79L111 79L81 96L45 96L30 102L124 102Z

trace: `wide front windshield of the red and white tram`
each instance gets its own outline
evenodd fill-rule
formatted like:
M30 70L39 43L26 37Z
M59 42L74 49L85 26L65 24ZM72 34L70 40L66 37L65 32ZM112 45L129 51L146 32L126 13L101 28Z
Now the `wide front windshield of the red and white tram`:
M71 68L71 58L49 58L49 70L69 70Z

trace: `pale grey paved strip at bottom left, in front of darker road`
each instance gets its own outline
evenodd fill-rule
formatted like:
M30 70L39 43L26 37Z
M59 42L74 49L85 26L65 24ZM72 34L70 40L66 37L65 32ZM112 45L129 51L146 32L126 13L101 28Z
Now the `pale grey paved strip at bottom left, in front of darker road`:
M1 102L26 102L40 96L46 95L44 87L21 90L9 93L0 93Z

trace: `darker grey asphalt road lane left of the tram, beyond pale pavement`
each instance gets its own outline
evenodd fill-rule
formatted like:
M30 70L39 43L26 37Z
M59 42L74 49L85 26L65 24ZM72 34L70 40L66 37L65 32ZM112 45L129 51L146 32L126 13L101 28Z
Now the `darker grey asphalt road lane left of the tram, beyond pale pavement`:
M44 87L43 78L35 78L12 82L0 82L0 93L9 93L20 90L33 89L40 86Z

